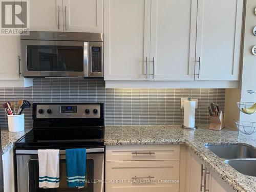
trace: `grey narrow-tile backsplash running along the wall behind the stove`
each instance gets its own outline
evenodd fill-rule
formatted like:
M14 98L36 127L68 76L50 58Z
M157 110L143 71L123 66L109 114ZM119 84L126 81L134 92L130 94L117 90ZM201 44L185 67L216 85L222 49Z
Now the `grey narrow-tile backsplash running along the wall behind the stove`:
M36 78L33 87L0 88L0 103L22 98L33 102L104 102L106 125L182 124L181 98L198 98L196 124L208 124L207 106L224 112L225 89L105 89L103 79ZM32 109L25 109L25 124L32 126ZM0 108L0 126L7 116Z

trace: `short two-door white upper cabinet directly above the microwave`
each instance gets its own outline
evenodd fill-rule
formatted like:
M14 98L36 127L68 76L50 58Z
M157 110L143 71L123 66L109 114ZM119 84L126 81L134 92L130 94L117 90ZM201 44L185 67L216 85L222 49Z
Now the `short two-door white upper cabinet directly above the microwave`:
M103 0L31 0L32 31L103 32Z

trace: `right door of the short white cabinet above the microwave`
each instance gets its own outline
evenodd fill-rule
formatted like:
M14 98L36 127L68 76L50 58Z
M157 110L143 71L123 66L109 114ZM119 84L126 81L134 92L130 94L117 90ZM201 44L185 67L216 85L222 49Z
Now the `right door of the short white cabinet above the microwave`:
M63 0L63 29L103 32L103 0Z

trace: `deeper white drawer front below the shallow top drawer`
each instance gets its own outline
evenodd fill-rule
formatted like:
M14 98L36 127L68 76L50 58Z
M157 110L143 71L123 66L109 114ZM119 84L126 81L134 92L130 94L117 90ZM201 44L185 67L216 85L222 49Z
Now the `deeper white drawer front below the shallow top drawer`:
M178 192L179 161L106 162L106 192Z

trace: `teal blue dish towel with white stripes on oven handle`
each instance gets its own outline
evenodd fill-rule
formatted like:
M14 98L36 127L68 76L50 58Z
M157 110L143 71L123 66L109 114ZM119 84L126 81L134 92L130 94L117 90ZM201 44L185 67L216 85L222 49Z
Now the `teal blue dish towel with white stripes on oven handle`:
M82 188L86 179L86 148L66 150L67 183L70 188Z

